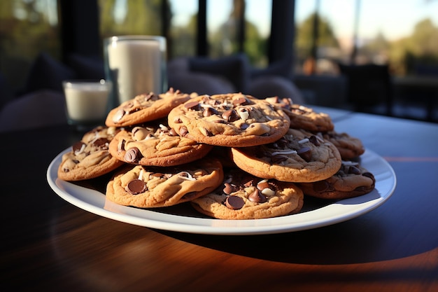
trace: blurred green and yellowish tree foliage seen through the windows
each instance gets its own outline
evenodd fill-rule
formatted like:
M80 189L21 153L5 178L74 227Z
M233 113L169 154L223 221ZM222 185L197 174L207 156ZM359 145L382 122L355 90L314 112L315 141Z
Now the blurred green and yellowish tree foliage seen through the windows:
M197 15L192 15L188 25L177 27L171 22L169 0L129 0L125 15L115 15L115 0L99 0L101 38L122 34L162 34L161 4L168 1L169 26L168 50L171 57L196 54ZM59 26L57 19L50 18L48 11L57 11L56 0L6 0L0 1L0 70L13 88L20 88L25 80L29 65L40 52L52 57L60 56ZM209 32L211 57L237 53L236 13L216 32ZM55 15L55 18L57 15ZM312 45L313 18L315 14L296 25L295 50L297 60L310 55ZM231 24L231 25L230 25ZM243 50L255 66L267 64L267 39L257 27L246 20ZM319 48L339 50L336 32L325 18L318 25ZM374 40L359 48L358 53L372 60L381 55L386 59L394 74L414 72L419 64L438 65L438 27L425 19L416 24L411 36L397 41L388 41L378 34ZM344 55L348 53L344 53Z

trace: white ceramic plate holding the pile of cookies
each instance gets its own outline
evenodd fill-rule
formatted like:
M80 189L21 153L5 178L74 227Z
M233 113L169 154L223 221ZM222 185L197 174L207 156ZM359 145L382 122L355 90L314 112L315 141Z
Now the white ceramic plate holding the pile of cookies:
M355 218L386 202L393 194L396 178L393 168L379 155L365 151L361 165L376 178L376 188L367 195L323 204L321 200L304 200L299 214L256 220L220 220L206 218L191 209L190 204L158 209L125 207L106 200L98 188L80 186L57 178L62 154L52 160L47 179L50 187L67 202L99 216L116 221L141 225L160 230L190 232L211 235L255 235L292 232L318 228Z

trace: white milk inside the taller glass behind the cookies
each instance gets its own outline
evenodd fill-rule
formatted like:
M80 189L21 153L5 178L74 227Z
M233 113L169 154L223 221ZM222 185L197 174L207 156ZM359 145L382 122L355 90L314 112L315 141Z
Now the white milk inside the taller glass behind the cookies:
M160 42L154 39L113 39L107 45L118 103L142 93L162 93L164 64Z

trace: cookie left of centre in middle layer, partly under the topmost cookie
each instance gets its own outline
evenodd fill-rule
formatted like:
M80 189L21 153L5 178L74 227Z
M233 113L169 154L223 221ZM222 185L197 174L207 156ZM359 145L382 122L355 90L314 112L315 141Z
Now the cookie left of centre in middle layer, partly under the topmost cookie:
M203 158L213 148L180 137L166 123L157 120L120 131L109 145L111 155L134 165L173 166Z

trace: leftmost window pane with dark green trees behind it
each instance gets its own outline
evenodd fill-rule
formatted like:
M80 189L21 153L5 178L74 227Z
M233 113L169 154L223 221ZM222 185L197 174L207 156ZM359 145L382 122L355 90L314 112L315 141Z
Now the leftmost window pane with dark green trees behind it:
M38 53L60 57L57 0L0 1L0 35L0 71L15 93Z

